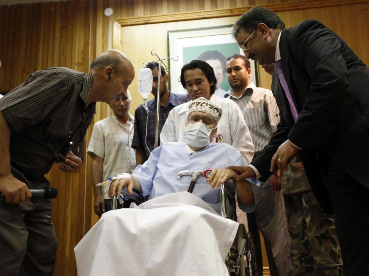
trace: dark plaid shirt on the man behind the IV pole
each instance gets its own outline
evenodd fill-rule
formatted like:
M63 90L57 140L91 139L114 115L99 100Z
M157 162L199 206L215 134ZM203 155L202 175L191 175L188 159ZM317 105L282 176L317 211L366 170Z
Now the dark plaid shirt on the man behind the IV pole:
M170 92L167 106L160 106L159 113L159 137L158 145L160 145L160 133L163 125L168 118L169 112L175 107L188 101L187 95L174 94ZM134 117L134 135L132 148L145 150L146 155L154 150L155 131L156 131L156 99L152 99L145 104L137 107Z

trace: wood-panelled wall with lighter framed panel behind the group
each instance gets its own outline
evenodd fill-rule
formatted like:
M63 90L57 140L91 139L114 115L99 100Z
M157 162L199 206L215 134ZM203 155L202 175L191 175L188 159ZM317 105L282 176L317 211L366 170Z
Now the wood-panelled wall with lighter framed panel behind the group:
M167 55L166 30L232 24L251 5L266 5L277 11L287 27L316 18L341 35L364 62L369 62L366 30L369 29L368 0L76 0L52 3L0 6L0 92L9 91L36 70L66 66L88 72L89 63L112 46L121 48L135 65L152 60L150 50ZM103 14L111 7L110 17ZM196 11L203 11L202 14ZM177 15L179 12L180 18ZM152 30L151 16L163 24ZM155 17L156 16L156 17ZM224 18L226 17L226 18ZM147 20L146 26L140 25ZM205 19L204 19L205 18ZM123 20L118 20L123 19ZM170 21L175 19L176 21ZM190 19L190 20L189 20ZM133 23L124 24L124 20ZM179 20L179 21L178 21ZM182 20L188 20L183 22ZM120 23L118 23L118 21ZM123 22L123 23L122 23ZM152 47L155 45L155 48ZM158 46L156 46L158 45ZM260 86L270 87L270 76L259 68ZM142 103L137 94L137 77L130 86L134 100L131 113ZM94 122L111 114L105 103L97 104ZM75 275L73 248L97 221L92 210L90 159L85 150L84 165L65 174L54 166L47 175L59 196L52 200L52 219L59 239L55 275Z

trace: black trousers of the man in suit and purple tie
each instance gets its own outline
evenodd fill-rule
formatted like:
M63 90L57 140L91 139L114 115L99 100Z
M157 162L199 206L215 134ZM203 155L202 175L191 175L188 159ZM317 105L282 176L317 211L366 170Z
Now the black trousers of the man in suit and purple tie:
M369 188L332 163L328 169L328 191L347 274L366 275L369 261Z

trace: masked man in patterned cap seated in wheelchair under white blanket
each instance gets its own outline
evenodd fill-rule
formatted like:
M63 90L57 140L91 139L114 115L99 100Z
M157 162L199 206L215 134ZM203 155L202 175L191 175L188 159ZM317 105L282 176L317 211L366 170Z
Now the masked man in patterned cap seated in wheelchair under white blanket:
M75 247L78 275L228 275L224 260L238 223L218 215L219 186L233 179L246 212L259 187L227 169L247 165L235 148L210 144L221 115L205 98L192 101L186 143L158 147L132 176L111 183L110 197L124 187L150 200L102 216Z

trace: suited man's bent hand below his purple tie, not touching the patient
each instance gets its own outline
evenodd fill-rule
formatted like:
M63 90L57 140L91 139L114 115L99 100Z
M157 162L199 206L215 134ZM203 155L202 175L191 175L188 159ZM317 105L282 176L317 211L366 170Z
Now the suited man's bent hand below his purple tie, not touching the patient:
M299 151L300 149L294 146L289 140L285 141L273 155L272 161L270 162L270 172L273 172L277 167L280 172L283 172L287 169L288 163Z

